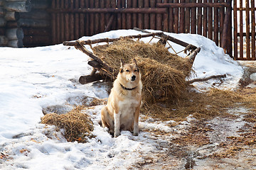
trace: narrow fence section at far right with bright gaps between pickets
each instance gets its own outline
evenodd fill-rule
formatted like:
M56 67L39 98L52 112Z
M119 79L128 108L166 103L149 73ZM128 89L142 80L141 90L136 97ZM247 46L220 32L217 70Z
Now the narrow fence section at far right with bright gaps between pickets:
M234 0L234 58L256 60L255 0Z

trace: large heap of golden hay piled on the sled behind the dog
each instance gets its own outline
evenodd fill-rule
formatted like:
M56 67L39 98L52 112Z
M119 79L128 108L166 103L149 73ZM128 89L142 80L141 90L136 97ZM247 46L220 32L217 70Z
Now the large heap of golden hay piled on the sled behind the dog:
M190 62L156 43L122 39L92 50L114 68L114 75L119 72L120 59L130 63L135 58L142 72L143 101L147 105L179 98L186 88L185 78L191 72Z

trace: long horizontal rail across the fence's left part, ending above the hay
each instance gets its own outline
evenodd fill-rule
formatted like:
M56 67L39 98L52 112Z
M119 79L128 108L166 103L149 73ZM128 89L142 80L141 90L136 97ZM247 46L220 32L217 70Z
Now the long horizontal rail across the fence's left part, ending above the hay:
M167 13L167 8L61 8L48 11L50 13Z

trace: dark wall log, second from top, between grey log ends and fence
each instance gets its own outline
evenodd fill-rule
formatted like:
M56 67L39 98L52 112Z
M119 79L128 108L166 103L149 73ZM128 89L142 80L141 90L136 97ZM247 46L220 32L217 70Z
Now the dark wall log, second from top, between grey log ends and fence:
M38 9L31 9L30 12L19 13L21 18L31 18L31 19L43 19L49 20L50 15L46 11L38 10Z

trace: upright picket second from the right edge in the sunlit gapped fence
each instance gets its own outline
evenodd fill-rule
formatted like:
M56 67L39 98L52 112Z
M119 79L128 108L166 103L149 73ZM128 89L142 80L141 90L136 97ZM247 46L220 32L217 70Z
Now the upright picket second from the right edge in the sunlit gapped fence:
M250 60L250 16L249 16L249 0L245 1L245 26L246 26L246 58Z

